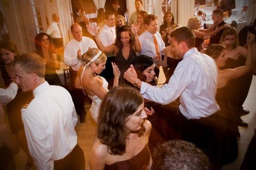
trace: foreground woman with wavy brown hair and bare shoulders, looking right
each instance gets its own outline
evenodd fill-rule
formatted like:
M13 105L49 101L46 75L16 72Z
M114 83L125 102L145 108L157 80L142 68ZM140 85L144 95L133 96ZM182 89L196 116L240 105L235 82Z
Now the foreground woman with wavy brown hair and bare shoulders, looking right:
M90 170L148 170L151 156L143 97L130 87L112 88L99 111L98 135L89 156Z

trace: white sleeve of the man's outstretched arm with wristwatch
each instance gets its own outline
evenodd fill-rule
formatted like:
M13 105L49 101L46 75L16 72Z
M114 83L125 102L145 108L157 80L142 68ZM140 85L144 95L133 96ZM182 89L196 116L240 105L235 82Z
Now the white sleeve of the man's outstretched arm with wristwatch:
M168 84L159 88L142 82L140 93L144 98L166 105L177 99L187 87L195 65L192 63L188 68L179 63Z

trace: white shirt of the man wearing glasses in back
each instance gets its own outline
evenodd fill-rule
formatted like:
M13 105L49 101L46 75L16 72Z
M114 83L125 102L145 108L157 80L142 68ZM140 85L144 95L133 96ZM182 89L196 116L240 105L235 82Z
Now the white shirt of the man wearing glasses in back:
M99 32L99 39L104 47L114 44L116 42L116 28L104 25ZM107 54L108 57L113 55L113 53Z

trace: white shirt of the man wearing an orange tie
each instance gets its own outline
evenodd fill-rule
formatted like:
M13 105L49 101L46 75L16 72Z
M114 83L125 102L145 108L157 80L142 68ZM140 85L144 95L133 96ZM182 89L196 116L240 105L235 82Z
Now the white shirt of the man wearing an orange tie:
M156 47L154 45L154 37L156 37L157 45L159 48L159 54L163 54L163 49L165 48L165 43L161 37L161 34L157 32L156 34L151 34L148 31L145 31L140 35L140 42L142 49L139 52L140 55L146 55L148 57L154 58L157 55Z

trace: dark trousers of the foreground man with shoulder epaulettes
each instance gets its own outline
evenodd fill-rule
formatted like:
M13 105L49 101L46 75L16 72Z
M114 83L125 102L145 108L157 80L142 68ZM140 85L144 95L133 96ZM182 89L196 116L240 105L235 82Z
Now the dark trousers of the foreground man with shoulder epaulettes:
M84 170L84 152L77 144L63 159L54 161L54 170Z

